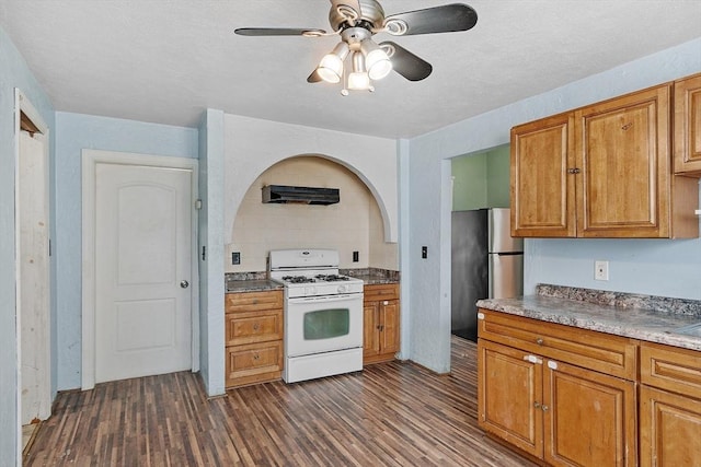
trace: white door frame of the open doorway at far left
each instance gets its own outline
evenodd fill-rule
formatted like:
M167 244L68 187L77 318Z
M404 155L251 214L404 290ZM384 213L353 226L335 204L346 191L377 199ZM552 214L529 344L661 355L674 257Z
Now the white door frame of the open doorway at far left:
M48 220L49 220L49 199L50 199L50 184L49 184L49 128L42 118L42 115L36 110L34 105L30 102L30 100L20 91L19 89L14 89L14 219L15 219L15 264L14 264L14 273L15 273L15 334L16 334L16 383L18 390L15 394L16 397L16 416L18 416L18 465L22 464L22 276L20 268L20 248L18 247L20 242L20 197L16 196L20 189L20 131L21 131L21 118L22 114L24 114L32 124L36 127L38 132L42 135L42 142L44 145L44 162L45 162L45 174L44 174L44 184L45 184L45 192L46 192L46 222L47 222L47 234L50 235L48 231ZM44 346L42 349L44 351L44 358L46 361L46 366L42 369L45 372L46 377L44 378L46 387L42 388L42 398L45 399L42 406L51 407L51 342L50 342L50 258L46 264L46 302L48 314L46 319L46 342L39 342L39 346ZM48 417L50 413L47 413Z

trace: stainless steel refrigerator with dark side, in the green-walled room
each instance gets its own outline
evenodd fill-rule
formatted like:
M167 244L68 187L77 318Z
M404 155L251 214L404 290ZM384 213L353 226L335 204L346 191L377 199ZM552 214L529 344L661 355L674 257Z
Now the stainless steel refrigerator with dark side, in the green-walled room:
M451 332L476 341L481 299L524 293L524 241L510 236L508 209L452 212Z

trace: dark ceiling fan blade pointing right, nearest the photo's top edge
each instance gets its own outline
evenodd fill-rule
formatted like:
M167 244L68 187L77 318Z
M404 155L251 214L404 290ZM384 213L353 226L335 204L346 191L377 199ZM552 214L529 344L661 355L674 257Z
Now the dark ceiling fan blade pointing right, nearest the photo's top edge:
M406 25L406 31L401 23ZM463 3L392 14L384 20L388 32L399 36L468 31L476 23L478 13Z

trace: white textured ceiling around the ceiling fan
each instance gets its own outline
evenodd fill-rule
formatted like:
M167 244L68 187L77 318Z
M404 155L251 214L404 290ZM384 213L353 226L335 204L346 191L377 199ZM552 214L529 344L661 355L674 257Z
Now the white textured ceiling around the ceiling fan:
M399 13L455 0L381 0ZM468 0L468 32L397 37L434 66L341 95L307 77L337 38L242 37L235 27L329 30L327 0L0 0L57 110L197 125L203 109L411 138L701 36L701 0ZM701 52L701 51L700 51ZM1 70L1 67L0 67Z

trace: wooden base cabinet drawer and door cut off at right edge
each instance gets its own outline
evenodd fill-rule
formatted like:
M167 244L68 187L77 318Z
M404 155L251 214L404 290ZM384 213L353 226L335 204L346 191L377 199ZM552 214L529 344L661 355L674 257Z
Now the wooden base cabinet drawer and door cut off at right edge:
M640 465L692 466L701 459L701 353L643 342Z

